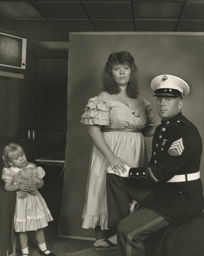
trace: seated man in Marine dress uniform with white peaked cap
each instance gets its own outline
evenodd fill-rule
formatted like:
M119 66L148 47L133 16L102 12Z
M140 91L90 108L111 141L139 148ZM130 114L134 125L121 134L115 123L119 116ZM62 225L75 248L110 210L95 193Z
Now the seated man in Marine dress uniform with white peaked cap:
M117 228L118 256L144 256L148 234L185 223L204 209L199 172L202 140L181 112L189 86L176 76L161 75L151 81L151 88L162 121L153 136L148 167L126 166L121 176L111 174L111 168L107 173L108 227ZM131 214L129 197L142 205Z

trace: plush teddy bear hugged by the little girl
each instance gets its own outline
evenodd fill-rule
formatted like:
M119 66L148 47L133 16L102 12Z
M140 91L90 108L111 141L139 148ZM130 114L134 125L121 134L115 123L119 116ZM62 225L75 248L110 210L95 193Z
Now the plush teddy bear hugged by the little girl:
M36 182L37 184L40 184L41 181L33 177L32 170L34 170L34 168L32 166L30 166L29 168L24 168L23 170L20 170L18 172L19 178L16 178L15 182L16 183L26 182L26 183L29 183L30 187L34 182ZM36 191L31 191L30 188L27 191L17 190L17 194L19 195L20 198L26 197L28 192L30 192L31 195L37 195L37 193L38 193L37 190Z

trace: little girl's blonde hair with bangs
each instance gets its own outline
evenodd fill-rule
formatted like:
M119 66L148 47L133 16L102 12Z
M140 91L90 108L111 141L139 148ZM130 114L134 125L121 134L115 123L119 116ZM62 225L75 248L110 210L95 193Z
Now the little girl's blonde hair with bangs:
M25 154L25 153L23 148L20 147L19 144L16 144L16 143L8 144L3 150L3 160L5 163L5 166L9 168L10 167L9 162L11 162L12 159L15 159L15 157L18 157L21 154Z

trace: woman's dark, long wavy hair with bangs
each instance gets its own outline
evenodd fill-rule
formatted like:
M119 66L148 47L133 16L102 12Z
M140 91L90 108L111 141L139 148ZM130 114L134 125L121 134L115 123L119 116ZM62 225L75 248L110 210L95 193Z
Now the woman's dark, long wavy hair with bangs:
M102 73L102 90L110 94L118 94L121 92L121 88L114 81L112 75L112 66L119 64L127 65L131 69L130 80L126 88L126 93L129 98L136 99L137 95L139 94L137 80L138 69L134 63L133 56L127 51L112 52L112 54L109 55L108 61L106 62L104 71Z

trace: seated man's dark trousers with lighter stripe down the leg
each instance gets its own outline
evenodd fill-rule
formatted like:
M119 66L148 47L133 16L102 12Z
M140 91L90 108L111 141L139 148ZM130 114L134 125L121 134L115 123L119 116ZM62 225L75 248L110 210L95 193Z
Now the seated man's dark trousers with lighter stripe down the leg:
M145 256L143 240L152 232L172 224L162 216L143 208L130 214L129 198L145 204L154 192L139 186L135 178L107 173L108 227L117 229L118 256Z

